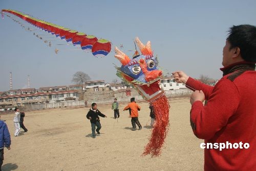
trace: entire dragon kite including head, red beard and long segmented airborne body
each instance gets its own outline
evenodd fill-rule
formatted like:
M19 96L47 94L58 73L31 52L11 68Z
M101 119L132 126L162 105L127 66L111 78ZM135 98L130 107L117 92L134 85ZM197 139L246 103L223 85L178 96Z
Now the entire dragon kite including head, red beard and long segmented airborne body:
M67 29L14 10L2 10L2 18L4 18L5 13L17 16L50 35L65 40L74 46L81 47L82 50L91 50L92 54L96 57L106 56L111 51L111 42L108 40L98 39L93 35ZM18 20L12 19L20 23ZM22 25L22 27L25 28L24 25ZM28 30L31 31L30 28L28 28ZM39 36L38 38L42 39ZM162 71L157 69L158 60L153 56L150 41L148 41L146 45L144 45L139 38L136 38L135 41L140 49L141 55L136 51L133 59L130 59L115 47L115 57L122 64L121 67L116 67L117 75L124 81L131 83L143 98L153 105L156 121L152 129L150 141L145 146L143 155L151 154L152 156L158 156L161 153L161 148L168 132L169 103L161 87L160 77L162 76ZM47 41L45 42L48 43ZM49 46L51 46L51 42ZM58 53L57 49L55 49L55 53Z

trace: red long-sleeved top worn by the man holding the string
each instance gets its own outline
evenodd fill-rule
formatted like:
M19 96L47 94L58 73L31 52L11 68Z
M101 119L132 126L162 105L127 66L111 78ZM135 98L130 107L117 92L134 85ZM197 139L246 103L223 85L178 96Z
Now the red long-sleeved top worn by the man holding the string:
M248 149L242 146L243 149L222 151L205 148L205 170L256 170L256 71L247 70L233 79L229 76L234 72L215 87L191 78L186 82L187 86L202 90L208 100L206 106L196 101L191 107L190 123L198 138L205 139L205 144L228 141L250 145Z

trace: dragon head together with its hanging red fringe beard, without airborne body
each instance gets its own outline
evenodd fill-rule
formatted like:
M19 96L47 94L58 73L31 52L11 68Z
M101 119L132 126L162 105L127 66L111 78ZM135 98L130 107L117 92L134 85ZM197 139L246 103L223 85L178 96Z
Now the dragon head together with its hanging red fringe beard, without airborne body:
M116 67L117 75L131 83L153 105L156 121L143 155L159 156L169 127L169 103L161 87L162 71L157 69L158 60L153 56L151 42L144 45L138 37L135 41L142 55L136 51L133 59L115 47L115 58L122 64L121 67Z

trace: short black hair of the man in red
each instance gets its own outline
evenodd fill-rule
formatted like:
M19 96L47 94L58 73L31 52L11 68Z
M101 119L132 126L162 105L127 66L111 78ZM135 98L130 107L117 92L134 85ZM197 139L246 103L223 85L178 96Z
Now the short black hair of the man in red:
M247 62L256 62L256 27L251 25L233 26L228 31L230 50L239 47L241 57Z

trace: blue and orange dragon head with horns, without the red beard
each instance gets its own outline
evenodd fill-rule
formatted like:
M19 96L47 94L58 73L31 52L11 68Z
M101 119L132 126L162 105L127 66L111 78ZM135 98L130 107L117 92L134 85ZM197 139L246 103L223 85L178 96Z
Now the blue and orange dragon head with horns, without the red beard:
M151 42L144 45L138 37L135 41L142 55L136 51L133 59L115 47L115 58L122 64L116 67L117 75L134 85L145 100L153 101L164 93L160 83L162 71L157 69L158 60L153 56Z

